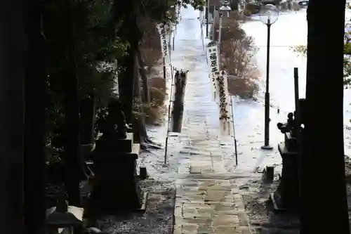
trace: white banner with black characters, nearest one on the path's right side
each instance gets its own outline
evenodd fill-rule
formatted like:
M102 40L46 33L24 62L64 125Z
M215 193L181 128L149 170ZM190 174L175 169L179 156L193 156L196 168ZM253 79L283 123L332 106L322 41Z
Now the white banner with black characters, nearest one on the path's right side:
M220 134L223 136L233 136L231 123L230 96L228 92L227 72L220 71L216 75L216 86L218 86L218 107L220 120Z

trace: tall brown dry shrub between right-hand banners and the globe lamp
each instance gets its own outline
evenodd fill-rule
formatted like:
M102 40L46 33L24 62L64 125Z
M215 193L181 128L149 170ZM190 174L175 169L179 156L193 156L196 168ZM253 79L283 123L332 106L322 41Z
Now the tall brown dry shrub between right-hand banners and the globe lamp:
M255 53L253 39L241 29L238 20L237 14L230 14L229 17L223 16L220 64L222 69L227 70L229 74L230 94L240 98L254 98L259 90L257 84L259 73L252 62ZM219 19L216 22L219 22ZM219 29L219 24L216 25L217 29Z

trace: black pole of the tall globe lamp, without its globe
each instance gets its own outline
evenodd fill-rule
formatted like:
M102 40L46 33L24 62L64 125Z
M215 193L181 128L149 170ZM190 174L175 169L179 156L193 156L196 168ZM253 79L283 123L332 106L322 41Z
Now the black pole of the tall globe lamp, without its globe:
M272 150L270 145L270 20L267 22L267 67L266 67L266 86L265 86L265 145L263 150Z

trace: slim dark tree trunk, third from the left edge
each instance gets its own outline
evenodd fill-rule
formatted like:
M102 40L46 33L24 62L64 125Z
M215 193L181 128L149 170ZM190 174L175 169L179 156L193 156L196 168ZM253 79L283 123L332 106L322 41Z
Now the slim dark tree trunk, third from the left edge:
M79 184L83 171L83 160L80 152L80 129L79 129L79 100L78 100L78 79L76 72L76 61L74 58L74 22L72 20L72 3L66 0L67 20L66 28L69 34L67 39L67 59L69 67L67 73L63 74L62 83L65 90L65 190L68 195L68 202L74 206L81 205Z

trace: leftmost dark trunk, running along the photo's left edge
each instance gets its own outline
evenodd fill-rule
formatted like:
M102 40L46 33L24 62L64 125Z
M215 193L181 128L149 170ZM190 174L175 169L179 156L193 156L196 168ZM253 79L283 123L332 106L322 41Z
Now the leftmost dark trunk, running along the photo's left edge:
M24 233L23 156L25 112L24 1L0 4L0 227Z

